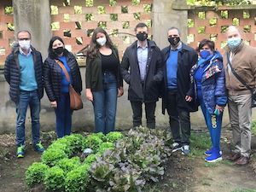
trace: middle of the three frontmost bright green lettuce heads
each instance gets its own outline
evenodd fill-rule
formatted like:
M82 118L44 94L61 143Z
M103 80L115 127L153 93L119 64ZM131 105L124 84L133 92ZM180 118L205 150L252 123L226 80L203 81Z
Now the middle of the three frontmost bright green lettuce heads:
M48 191L62 191L64 181L64 171L59 166L53 166L45 172L44 186Z

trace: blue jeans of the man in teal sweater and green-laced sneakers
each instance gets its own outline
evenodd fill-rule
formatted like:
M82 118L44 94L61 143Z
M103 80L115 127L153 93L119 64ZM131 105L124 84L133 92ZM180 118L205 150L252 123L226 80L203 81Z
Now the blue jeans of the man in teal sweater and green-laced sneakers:
M16 144L17 146L25 144L25 122L26 109L29 106L32 119L32 143L35 145L40 141L40 100L38 91L20 90L20 99L16 103Z

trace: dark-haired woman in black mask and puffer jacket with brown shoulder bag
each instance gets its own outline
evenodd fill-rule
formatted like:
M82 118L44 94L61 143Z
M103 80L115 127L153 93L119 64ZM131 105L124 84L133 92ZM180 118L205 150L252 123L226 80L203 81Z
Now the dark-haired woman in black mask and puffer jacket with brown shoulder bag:
M72 127L69 84L80 94L81 74L75 56L65 49L60 37L50 39L48 52L44 61L44 87L51 108L55 108L57 137L64 137L70 135Z

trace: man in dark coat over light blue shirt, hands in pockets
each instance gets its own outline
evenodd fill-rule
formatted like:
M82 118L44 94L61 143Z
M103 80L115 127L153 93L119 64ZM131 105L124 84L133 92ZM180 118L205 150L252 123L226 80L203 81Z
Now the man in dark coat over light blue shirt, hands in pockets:
M142 125L143 103L148 128L155 128L154 111L160 96L163 79L162 55L154 41L148 40L148 26L135 27L137 41L126 50L121 63L121 73L129 84L128 100L131 101L133 127Z

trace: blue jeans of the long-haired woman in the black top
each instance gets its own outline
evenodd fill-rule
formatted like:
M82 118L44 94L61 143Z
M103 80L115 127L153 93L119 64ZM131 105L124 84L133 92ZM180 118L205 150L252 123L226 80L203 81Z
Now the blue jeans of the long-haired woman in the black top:
M95 132L114 131L117 106L117 80L112 73L102 73L103 90L93 91Z

